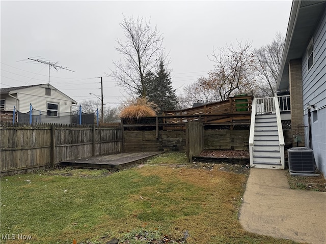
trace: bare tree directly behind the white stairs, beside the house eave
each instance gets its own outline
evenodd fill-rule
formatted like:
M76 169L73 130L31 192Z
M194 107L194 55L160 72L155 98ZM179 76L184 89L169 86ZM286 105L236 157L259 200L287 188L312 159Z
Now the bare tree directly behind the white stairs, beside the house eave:
M261 94L275 96L285 38L277 33L270 44L254 49L257 71L262 81Z

